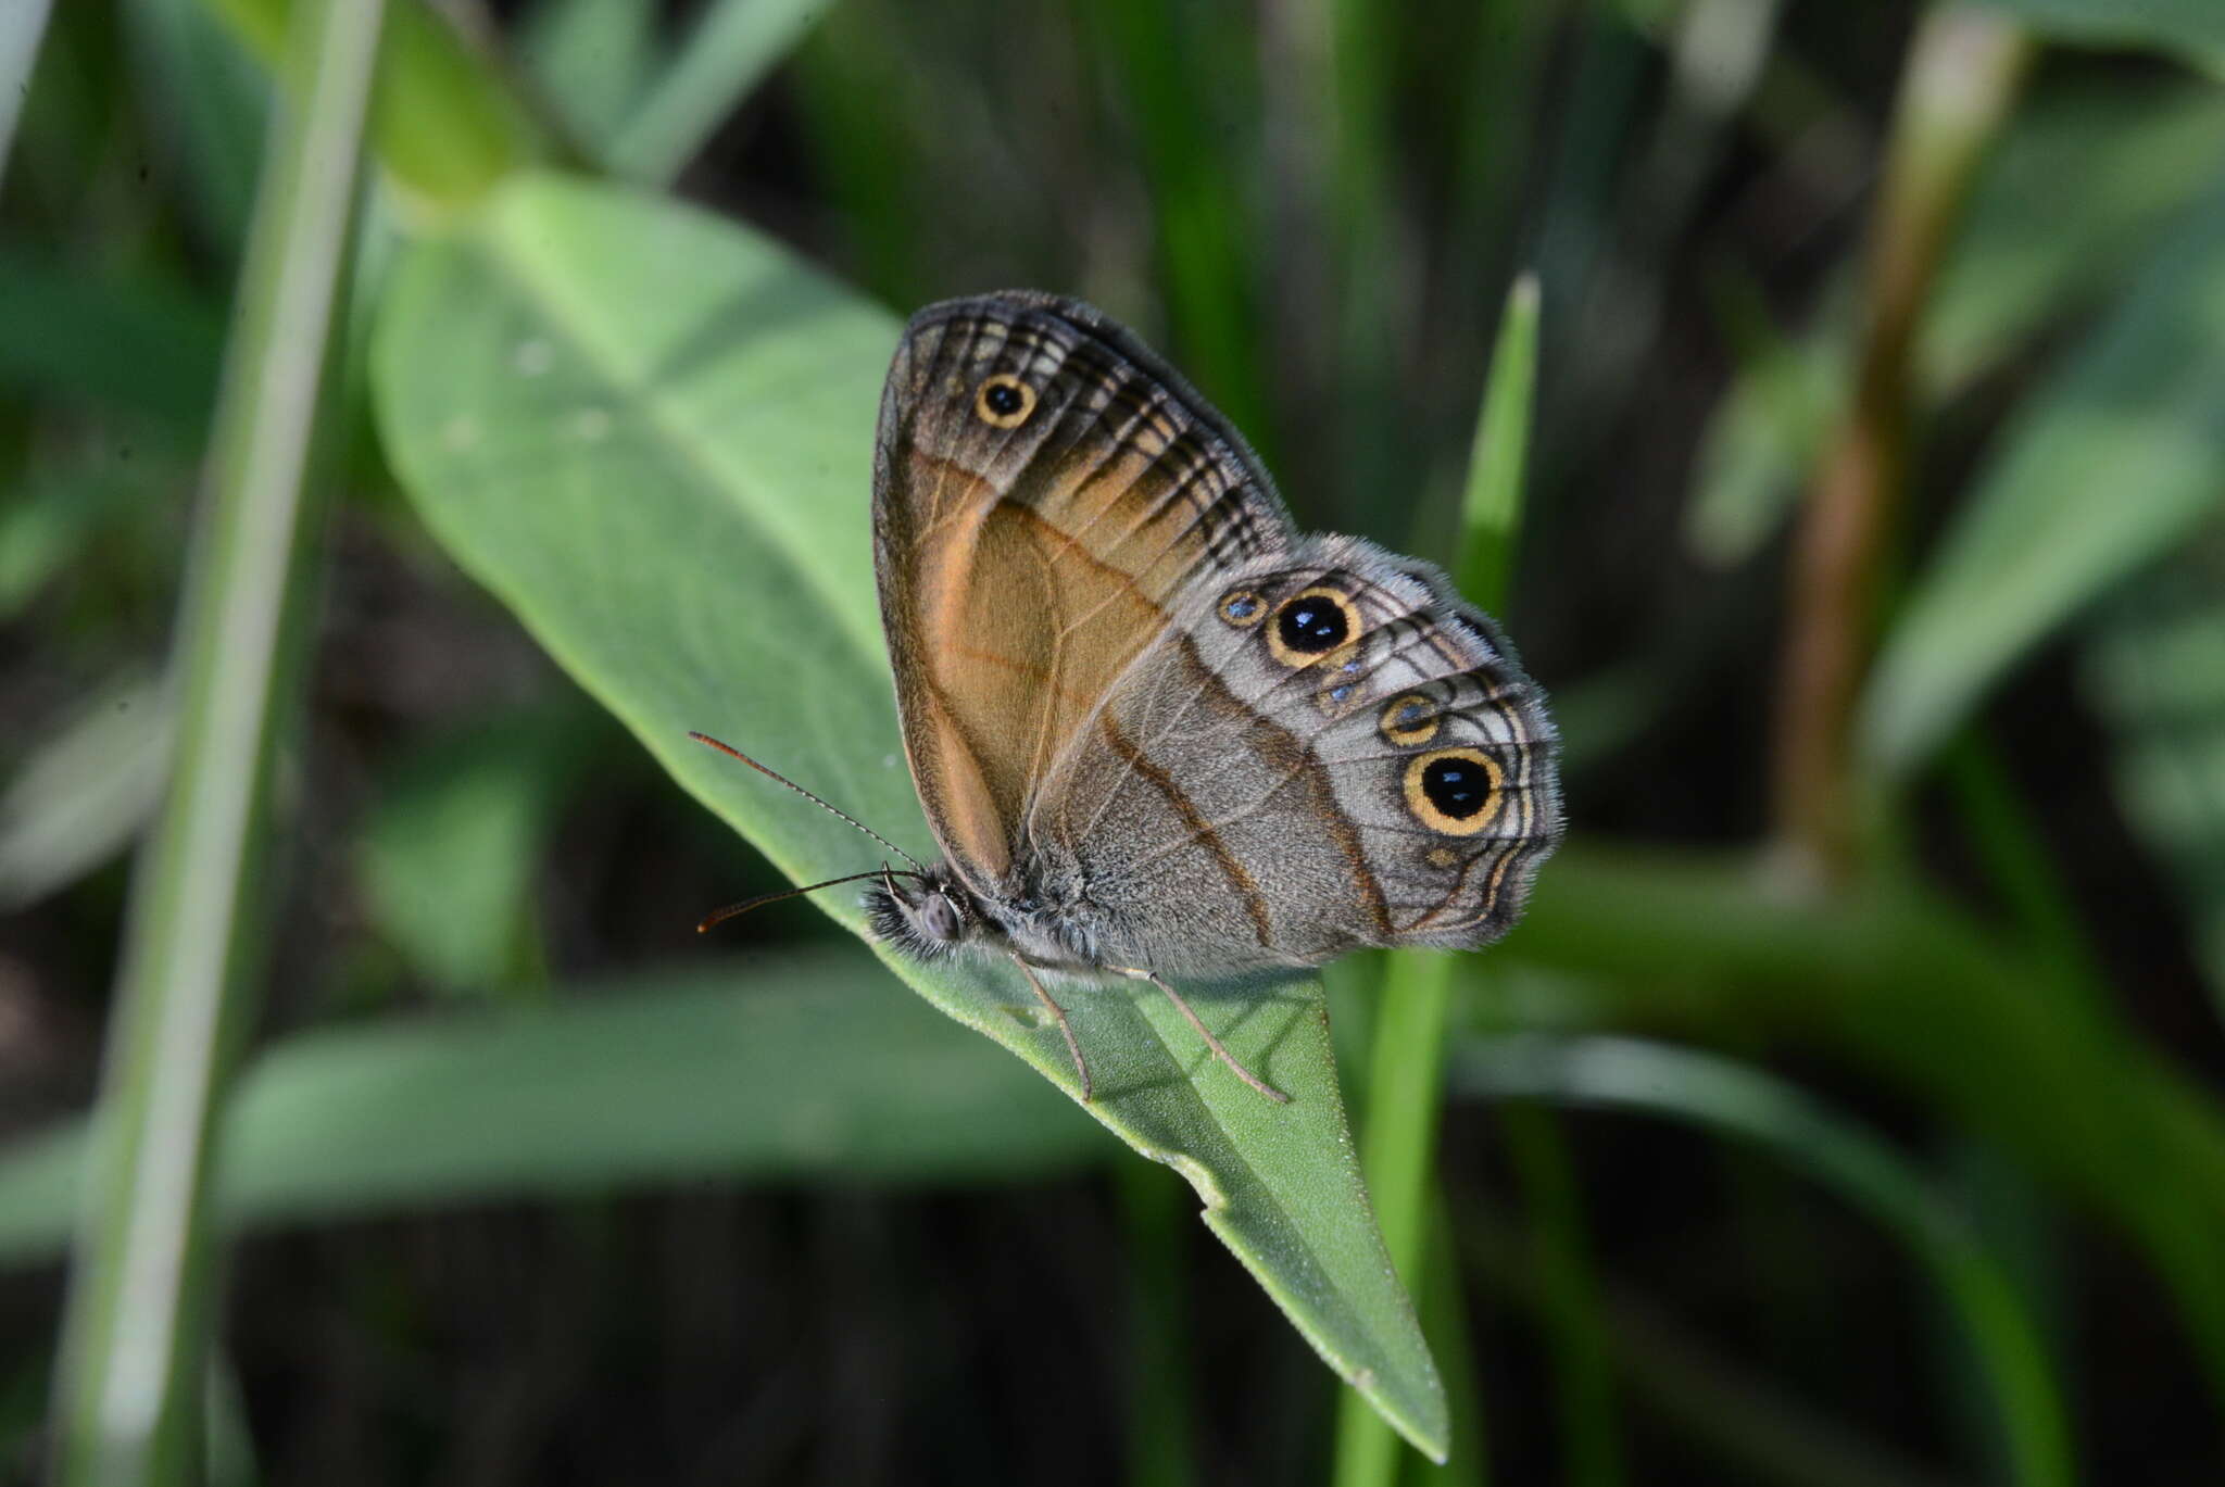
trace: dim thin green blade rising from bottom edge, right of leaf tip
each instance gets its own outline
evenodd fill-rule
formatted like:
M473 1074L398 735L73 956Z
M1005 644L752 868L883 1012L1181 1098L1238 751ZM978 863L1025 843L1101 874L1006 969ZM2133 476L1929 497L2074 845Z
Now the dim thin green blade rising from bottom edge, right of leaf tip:
M1522 1184L1522 1200L1535 1215L1531 1264L1537 1271L1537 1300L1553 1367L1562 1476L1573 1487L1615 1487L1629 1474L1622 1469L1615 1387L1606 1367L1606 1327L1600 1318L1569 1138L1560 1117L1533 1102L1509 1104L1500 1129L1506 1135L1515 1180Z

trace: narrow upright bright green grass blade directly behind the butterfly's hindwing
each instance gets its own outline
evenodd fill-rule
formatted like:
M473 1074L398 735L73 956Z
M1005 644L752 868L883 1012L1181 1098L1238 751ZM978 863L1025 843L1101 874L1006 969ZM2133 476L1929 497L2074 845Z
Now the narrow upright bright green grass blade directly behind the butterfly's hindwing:
M1537 280L1522 274L1506 294L1460 505L1462 557L1455 577L1462 594L1491 612L1506 608L1535 387ZM1451 955L1393 951L1384 957L1362 1162L1384 1247L1415 1291L1424 1282L1422 1251L1437 1207L1437 1111L1451 1013ZM1417 1296L1415 1304L1426 1300ZM1362 1400L1348 1396L1337 1418L1337 1487L1382 1487L1395 1476L1397 1440Z

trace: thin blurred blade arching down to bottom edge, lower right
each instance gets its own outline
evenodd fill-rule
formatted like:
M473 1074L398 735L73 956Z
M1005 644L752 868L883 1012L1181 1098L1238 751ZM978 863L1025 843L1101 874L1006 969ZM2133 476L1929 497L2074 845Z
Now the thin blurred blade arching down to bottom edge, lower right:
M1776 1151L1885 1224L1931 1271L1985 1369L2023 1487L2069 1487L2069 1418L2054 1365L2000 1264L1891 1149L1807 1095L1722 1057L1622 1037L1504 1037L1462 1048L1453 1086L1693 1122Z

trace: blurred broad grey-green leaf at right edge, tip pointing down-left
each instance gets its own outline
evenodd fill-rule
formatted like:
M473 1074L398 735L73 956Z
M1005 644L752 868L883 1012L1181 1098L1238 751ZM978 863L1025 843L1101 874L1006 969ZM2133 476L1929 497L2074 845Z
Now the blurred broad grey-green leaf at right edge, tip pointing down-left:
M1893 621L1862 748L1907 775L2005 670L2225 492L2225 196L2002 430Z

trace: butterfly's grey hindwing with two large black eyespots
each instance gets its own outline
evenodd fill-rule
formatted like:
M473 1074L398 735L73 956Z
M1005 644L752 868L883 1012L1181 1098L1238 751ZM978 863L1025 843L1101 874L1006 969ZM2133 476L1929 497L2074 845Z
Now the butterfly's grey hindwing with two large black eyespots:
M1542 692L1442 572L1319 536L1190 594L1039 835L1168 973L1473 948L1560 841L1555 755Z

